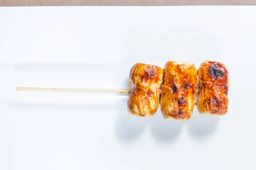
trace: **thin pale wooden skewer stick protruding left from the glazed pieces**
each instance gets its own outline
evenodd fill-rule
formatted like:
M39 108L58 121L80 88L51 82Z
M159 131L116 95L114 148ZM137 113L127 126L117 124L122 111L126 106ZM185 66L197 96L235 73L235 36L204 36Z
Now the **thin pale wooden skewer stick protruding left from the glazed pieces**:
M129 89L30 88L30 87L16 87L16 91L51 91L51 92L84 92L84 93L130 93Z

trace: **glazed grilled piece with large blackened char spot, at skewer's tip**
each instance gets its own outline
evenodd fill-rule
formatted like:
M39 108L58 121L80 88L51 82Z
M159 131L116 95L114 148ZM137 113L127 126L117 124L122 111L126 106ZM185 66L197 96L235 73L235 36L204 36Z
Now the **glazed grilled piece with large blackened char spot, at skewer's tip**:
M205 61L198 68L198 78L196 105L199 113L226 114L230 83L226 66L220 62Z

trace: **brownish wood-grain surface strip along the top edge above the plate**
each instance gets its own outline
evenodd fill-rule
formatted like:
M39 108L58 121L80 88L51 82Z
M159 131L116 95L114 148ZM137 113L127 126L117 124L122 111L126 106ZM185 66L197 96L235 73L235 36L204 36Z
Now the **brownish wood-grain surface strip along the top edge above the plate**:
M0 0L0 6L256 5L256 0Z

